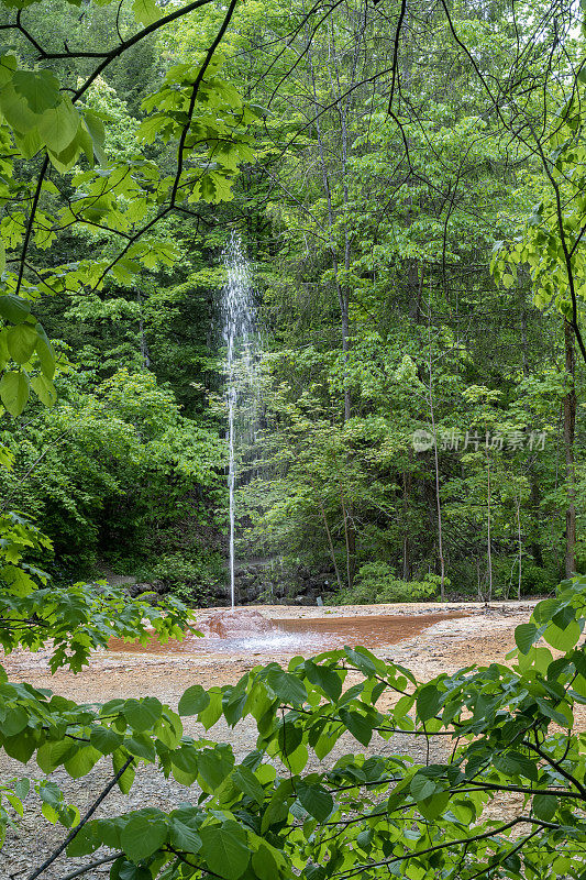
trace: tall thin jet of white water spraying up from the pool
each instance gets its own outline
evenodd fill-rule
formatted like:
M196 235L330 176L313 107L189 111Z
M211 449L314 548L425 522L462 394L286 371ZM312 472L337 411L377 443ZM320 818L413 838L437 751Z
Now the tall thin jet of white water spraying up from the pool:
M222 254L226 270L223 289L223 336L226 345L228 488L230 496L230 600L235 594L235 488L239 453L252 439L258 402L256 314L248 261L242 241L232 233Z

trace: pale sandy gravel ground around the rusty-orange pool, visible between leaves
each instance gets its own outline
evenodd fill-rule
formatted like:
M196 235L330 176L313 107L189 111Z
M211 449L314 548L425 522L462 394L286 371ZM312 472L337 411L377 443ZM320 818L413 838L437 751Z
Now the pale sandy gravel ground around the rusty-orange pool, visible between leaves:
M377 647L375 652L384 659L409 667L419 680L425 681L441 672L450 673L472 664L507 662L506 654L515 647L515 627L529 619L533 606L533 602L498 603L490 607L472 603L444 606L422 603L335 608L259 606L256 610L272 619L328 617L329 620L335 620L338 617L349 616L402 615L405 637L395 645ZM213 614L213 609L198 613L198 620L201 620L202 627L207 618ZM429 614L438 614L440 619L431 627L422 628L425 617L418 618ZM463 616L452 616L454 614ZM11 681L29 681L35 686L51 688L54 692L80 703L106 702L115 696L137 697L152 694L175 708L183 692L192 684L201 684L204 688L212 684L232 684L258 663L268 660L286 663L297 653L302 651L298 647L295 649L291 647L283 652L273 651L269 656L263 656L262 646L258 645L254 651L225 652L219 650L207 652L198 647L198 653L194 656L185 652L139 654L101 651L96 652L90 666L77 675L63 670L51 675L44 654L18 652L0 659ZM195 722L186 719L186 734L201 736L202 732ZM231 743L236 758L242 758L254 748L255 734L250 722L239 724L233 730L219 723L207 736L217 741ZM443 749L449 745L449 743L439 744L432 749L429 758L432 761L441 759ZM414 737L396 736L388 743L373 741L371 748L425 760L423 744ZM327 760L331 763L346 751L358 750L362 750L362 747L346 737L340 740ZM319 762L313 760L312 766L318 769ZM34 776L34 765L30 765L26 772ZM16 773L22 774L22 767L5 755L0 756L0 780ZM111 768L107 761L99 762L88 777L78 781L69 779L63 770L53 774L57 784L66 792L68 801L75 803L82 814L110 777ZM180 802L195 802L197 795L198 792L194 789L185 789L173 781L165 781L154 768L146 767L141 768L129 798L121 795L118 790L112 791L97 815L115 815L118 812L140 809L146 804L172 809ZM32 868L41 864L62 839L63 831L53 828L40 818L37 811L37 798L32 793L27 799L21 834L9 832L7 844L0 854L0 880L25 879ZM33 828L34 834L30 834ZM74 870L76 865L76 860L65 860L60 857L42 877L44 880L60 880L68 871ZM104 865L93 869L86 877L103 878L108 870L109 866Z

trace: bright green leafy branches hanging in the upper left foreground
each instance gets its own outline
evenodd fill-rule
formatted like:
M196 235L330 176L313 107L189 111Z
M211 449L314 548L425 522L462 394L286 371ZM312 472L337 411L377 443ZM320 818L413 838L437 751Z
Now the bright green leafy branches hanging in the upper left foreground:
M31 388L45 405L56 399L55 353L31 300L101 290L108 282L124 286L141 271L169 266L175 242L168 233L155 237L155 227L175 211L197 218L194 202L232 198L239 166L253 156L248 128L258 117L221 77L217 53L235 2L202 57L169 66L146 92L126 155L109 146L110 118L95 106L92 89L109 65L207 1L167 15L154 2L134 4L146 26L89 56L45 52L20 11L4 25L36 47L43 65L71 63L59 79L48 67L30 69L12 51L0 56L0 317L7 324L0 331L0 399L12 416L23 411ZM98 61L80 79L87 57ZM155 142L158 162L151 158ZM58 245L70 245L71 234L79 239L76 258L64 262ZM58 256L52 261L54 245Z

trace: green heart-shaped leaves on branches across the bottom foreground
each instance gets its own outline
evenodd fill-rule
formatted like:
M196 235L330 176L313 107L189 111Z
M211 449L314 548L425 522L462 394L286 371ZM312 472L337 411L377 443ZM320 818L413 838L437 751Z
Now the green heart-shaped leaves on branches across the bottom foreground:
M512 669L425 684L364 648L257 667L233 686L194 685L178 713L155 697L79 707L5 683L0 732L9 754L35 754L45 773L63 766L80 778L108 756L125 792L140 763L197 784L196 805L87 815L69 832L67 855L89 857L86 870L110 858L92 854L112 850L112 880L579 878L586 757L574 708L586 702L585 609L586 579L564 582L517 628ZM252 717L256 748L236 762L229 745L184 736L181 716L206 729ZM392 754L384 743L397 733L422 737L428 759ZM349 735L368 751L325 770L314 762ZM442 749L434 762L432 745Z

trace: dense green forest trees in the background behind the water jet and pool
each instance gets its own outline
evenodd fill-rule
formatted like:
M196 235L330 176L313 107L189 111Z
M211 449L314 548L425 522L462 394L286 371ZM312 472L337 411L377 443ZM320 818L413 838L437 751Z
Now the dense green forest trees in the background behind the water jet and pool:
M169 96L224 12L208 4L114 59L80 98L111 164L92 172L81 153L46 175L19 289L36 278L43 294L57 399L3 417L11 507L49 536L45 564L63 582L113 571L221 601L221 253L236 231L264 351L237 493L239 558L273 562L257 594L295 595L300 571L357 601L440 582L453 595L550 591L585 561L584 360L554 210L557 193L579 231L579 28L548 4L513 18L499 2L423 4L406 10L399 51L384 6L239 4L210 101L237 143L210 160L202 129L208 173L151 230L175 161ZM41 46L41 68L81 81L84 53L115 26L131 34L134 14L25 9L7 57L33 69ZM46 98L23 94L27 110ZM1 222L18 249L30 196L10 175ZM579 321L581 248L572 257ZM436 448L420 450L417 431Z

